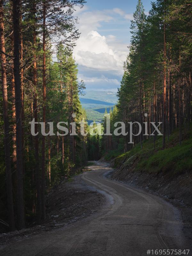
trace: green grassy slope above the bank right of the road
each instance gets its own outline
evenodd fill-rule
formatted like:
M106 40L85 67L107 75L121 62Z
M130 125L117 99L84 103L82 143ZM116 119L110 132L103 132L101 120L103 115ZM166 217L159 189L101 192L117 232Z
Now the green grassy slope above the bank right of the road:
M156 140L153 146L153 138L143 141L143 148L137 144L126 153L118 154L117 151L109 152L106 160L115 158L114 167L129 165L134 161L135 171L144 172L170 172L170 175L192 171L192 129L183 135L184 139L179 145L179 131L175 130L169 140L166 138L166 147L162 149L162 136ZM118 155L117 155L118 154ZM129 160L130 159L130 160ZM129 168L129 167L128 167Z

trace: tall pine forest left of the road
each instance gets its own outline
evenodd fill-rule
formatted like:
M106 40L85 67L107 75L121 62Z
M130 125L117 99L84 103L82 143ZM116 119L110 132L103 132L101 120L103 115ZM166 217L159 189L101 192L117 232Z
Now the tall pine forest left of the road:
M33 216L45 220L47 189L86 163L84 137L32 136L29 125L46 122L46 131L52 121L56 130L59 121L86 118L79 100L85 85L72 56L80 36L74 10L84 3L0 1L2 230L24 228Z

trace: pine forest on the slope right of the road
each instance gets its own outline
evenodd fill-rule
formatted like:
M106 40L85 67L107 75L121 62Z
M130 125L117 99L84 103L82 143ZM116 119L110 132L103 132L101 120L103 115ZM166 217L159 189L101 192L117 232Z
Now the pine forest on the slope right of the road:
M156 126L162 123L162 148L175 129L179 130L179 144L186 139L192 119L191 13L192 4L188 0L157 0L152 2L148 15L138 1L131 21L132 37L124 76L117 92L118 103L108 115L111 133L119 121L125 123L126 132L130 121L147 122L147 133L133 136L134 144L129 143L129 132L127 136L103 136L102 154L117 156L138 143L142 149L147 139L153 139L155 148L158 136L153 125L149 125L151 122ZM135 124L134 134L138 129ZM153 132L155 136L150 136Z

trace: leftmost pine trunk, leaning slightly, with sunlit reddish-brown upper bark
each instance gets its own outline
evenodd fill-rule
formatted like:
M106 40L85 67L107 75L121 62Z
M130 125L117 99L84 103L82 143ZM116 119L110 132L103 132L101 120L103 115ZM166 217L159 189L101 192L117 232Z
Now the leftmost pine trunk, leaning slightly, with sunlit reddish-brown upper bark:
M2 95L3 95L4 148L5 148L7 208L8 208L8 216L9 216L9 227L10 227L10 230L13 231L15 229L15 220L14 220L13 194L12 194L6 56L3 53L3 52L5 52L3 0L0 0L0 45L1 45L1 72L2 72L1 80L2 80Z

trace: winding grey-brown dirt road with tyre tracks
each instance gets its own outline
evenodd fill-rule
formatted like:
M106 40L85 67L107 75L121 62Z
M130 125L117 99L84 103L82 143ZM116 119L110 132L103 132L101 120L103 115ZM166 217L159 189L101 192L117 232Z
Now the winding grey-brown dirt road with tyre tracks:
M96 162L81 179L107 198L101 211L67 227L34 235L0 251L6 256L142 256L148 249L191 249L178 210L138 188L109 180ZM190 254L189 252L188 255Z

